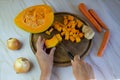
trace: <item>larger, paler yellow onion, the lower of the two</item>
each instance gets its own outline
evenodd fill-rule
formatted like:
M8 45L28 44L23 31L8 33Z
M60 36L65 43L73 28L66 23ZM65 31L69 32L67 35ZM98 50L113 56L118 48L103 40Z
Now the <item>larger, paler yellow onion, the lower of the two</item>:
M17 58L14 63L14 70L16 73L26 73L30 70L30 61L26 58Z

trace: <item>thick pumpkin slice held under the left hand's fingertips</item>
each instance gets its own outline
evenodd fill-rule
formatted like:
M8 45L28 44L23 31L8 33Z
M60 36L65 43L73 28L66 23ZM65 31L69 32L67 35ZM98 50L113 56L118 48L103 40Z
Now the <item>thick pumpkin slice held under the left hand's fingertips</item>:
M60 34L56 34L51 39L45 40L45 46L46 48L52 48L55 47L61 41L62 41L62 37L60 36Z

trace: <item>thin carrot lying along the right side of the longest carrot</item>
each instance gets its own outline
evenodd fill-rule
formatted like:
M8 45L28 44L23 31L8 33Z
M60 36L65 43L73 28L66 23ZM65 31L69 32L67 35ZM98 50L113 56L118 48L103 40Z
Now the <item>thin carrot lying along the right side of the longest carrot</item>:
M93 9L89 9L88 12L94 17L94 19L101 25L102 28L108 30L107 26L102 22L102 20Z

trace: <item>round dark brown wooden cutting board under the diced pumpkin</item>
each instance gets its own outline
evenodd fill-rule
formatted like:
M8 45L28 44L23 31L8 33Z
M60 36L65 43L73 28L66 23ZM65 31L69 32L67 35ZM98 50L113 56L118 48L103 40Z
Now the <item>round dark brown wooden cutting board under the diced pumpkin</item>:
M59 21L59 22L63 23L64 15L72 15L76 19L79 19L84 24L88 25L85 21L83 21L78 16L71 14L71 13L66 13L66 12L55 13L54 21ZM30 35L30 46L32 48L32 51L34 53L36 52L36 41L39 36L42 36L43 38L48 39L48 38L51 38L56 33L58 33L58 32L54 30L50 36L45 34L45 32L38 33L38 34L31 34ZM87 40L87 39L83 38L80 43L75 43L75 42L73 43L71 41L66 41L66 40L63 40L62 43L73 55L79 54L80 57L83 59L86 55L88 55L88 53L92 47L92 41L93 41L93 39ZM56 46L56 51L54 54L54 65L55 66L71 65L71 60L70 60L69 56L67 55L67 51L66 51L66 49L64 49L64 47L60 43Z

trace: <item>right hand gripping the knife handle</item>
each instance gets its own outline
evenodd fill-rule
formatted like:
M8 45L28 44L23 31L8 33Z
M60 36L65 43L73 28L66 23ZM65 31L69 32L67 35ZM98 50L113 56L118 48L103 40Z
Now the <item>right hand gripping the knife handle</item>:
M76 80L94 79L92 67L83 60L80 60L78 55L74 57L74 61L72 60L71 63Z

